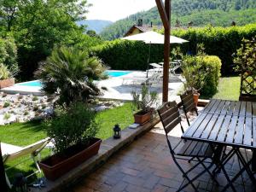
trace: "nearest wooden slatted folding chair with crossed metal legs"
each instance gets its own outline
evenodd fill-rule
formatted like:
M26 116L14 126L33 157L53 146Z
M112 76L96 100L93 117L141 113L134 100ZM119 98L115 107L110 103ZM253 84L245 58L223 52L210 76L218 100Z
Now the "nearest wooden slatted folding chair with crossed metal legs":
M187 187L189 184L195 189L195 191L198 191L195 187L195 184L193 183L198 177L201 177L202 174L205 172L208 172L209 175L212 177L212 179L218 183L218 181L215 179L215 177L212 175L212 172L210 172L211 167L214 165L212 162L213 158L213 149L212 146L210 146L208 143L202 143L202 142L196 142L196 141L186 141L185 143L183 140L180 140L179 143L175 147L172 146L172 143L169 140L168 133L172 131L176 125L181 125L181 129L183 131L183 126L181 124L181 117L178 112L177 103L176 102L166 102L161 108L159 108L158 113L160 115L160 120L164 126L164 130L166 132L166 141L168 144L168 147L170 149L170 153L172 154L172 159L177 165L178 169L183 173L183 183L185 180L188 181L188 183L181 184L179 189L177 191L181 191L185 187ZM177 148L179 148L178 151ZM193 158L192 161L195 161L195 165L192 166L188 171L184 171L183 167L180 166L178 163L178 160L189 160L189 158ZM206 161L207 159L211 159L210 161ZM209 166L206 166L205 163L208 163ZM199 174L197 174L193 178L189 178L189 172L193 171L195 167L197 166L203 166L204 170L201 171Z

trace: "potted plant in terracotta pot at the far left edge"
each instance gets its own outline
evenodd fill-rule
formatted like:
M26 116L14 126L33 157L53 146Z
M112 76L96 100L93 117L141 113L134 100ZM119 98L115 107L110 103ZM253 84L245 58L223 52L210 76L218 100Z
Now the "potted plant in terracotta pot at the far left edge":
M13 86L15 84L14 75L9 68L0 63L0 89Z

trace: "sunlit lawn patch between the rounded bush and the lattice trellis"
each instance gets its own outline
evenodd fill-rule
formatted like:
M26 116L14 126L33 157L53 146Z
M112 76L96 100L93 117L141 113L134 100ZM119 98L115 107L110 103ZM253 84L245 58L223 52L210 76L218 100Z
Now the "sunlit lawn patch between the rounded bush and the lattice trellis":
M240 91L240 77L220 78L218 84L218 93L212 98L238 100Z

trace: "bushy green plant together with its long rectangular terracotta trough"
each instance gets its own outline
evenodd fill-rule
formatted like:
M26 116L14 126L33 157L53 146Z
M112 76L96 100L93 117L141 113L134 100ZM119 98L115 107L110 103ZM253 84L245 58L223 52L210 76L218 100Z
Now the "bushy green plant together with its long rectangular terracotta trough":
M55 145L55 154L39 162L47 179L61 177L98 153L102 140L95 135L99 126L95 112L84 102L55 108L55 117L44 125Z

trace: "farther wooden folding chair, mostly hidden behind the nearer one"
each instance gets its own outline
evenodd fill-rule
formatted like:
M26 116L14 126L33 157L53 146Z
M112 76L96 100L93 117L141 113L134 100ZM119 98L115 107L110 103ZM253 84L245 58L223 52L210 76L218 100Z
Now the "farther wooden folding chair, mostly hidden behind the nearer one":
M197 111L197 108L195 106L195 102L194 102L194 98L193 98L193 91L188 90L188 91L184 92L180 96L180 99L181 99L182 104L183 104L183 111L185 113L187 122L190 125L187 113L195 111L196 115L198 115L198 111Z

